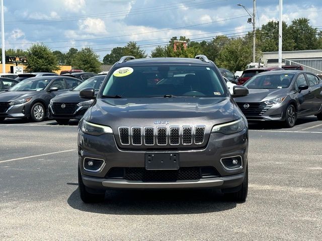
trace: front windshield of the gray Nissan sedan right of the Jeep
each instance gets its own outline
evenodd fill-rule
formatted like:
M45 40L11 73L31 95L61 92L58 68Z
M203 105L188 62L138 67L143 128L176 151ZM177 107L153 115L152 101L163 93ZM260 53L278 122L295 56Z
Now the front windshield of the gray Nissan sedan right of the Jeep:
M248 80L244 86L249 89L281 89L288 88L294 74L263 74Z

